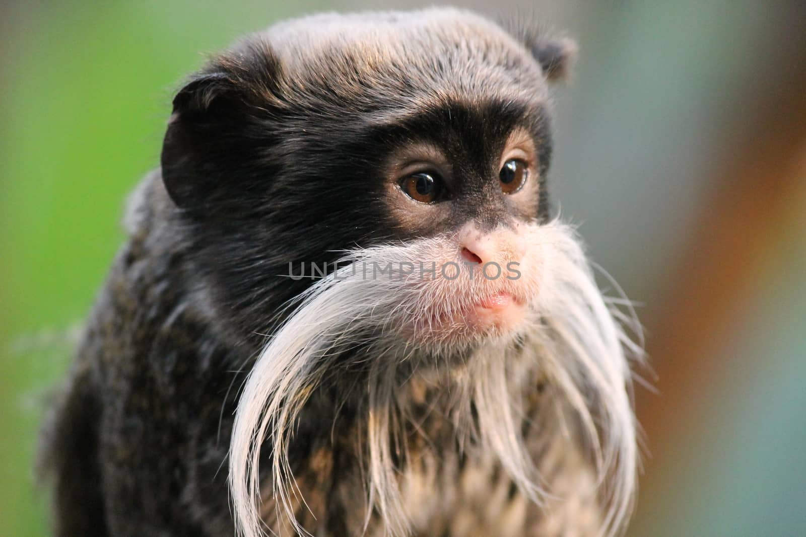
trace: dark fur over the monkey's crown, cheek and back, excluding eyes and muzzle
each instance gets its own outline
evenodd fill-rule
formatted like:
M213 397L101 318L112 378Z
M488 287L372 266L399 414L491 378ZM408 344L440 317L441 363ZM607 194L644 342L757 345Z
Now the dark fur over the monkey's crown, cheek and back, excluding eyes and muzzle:
M382 23L396 30L369 33ZM280 306L310 285L279 275L289 261L410 237L388 221L376 177L413 138L442 147L474 188L495 173L490 141L522 125L544 178L545 79L568 58L559 42L519 43L450 10L321 15L253 35L193 76L44 433L57 535L232 535L225 461L239 386ZM462 210L493 225L484 195ZM331 380L340 395L355 382ZM319 527L353 535L364 504L344 484L359 486L359 403L334 413L334 397L312 398L292 464Z

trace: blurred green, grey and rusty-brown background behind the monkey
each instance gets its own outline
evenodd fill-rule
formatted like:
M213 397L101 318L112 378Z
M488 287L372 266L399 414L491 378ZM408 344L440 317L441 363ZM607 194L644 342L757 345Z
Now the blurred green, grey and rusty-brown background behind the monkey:
M361 2L0 5L0 535L48 535L48 389L157 161L172 91L246 31ZM580 42L551 188L645 304L631 535L806 535L806 5L470 2Z

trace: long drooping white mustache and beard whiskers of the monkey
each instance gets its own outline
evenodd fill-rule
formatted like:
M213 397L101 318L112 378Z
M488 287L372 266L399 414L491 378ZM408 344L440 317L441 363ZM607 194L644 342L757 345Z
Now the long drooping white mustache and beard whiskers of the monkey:
M239 535L263 535L259 469L264 441L272 444L268 462L276 506L296 531L307 535L293 515L292 495L299 493L288 458L292 424L311 386L322 381L334 357L357 345L368 345L365 354L373 357L367 364L372 409L366 416L367 520L375 506L391 535L409 532L389 439L399 436L401 423L393 417L400 410L395 396L397 365L418 353L428 353L434 360L457 350L471 353L466 362L469 373L456 375L452 386L461 429L496 455L524 494L540 502L550 491L542 489L521 438L521 415L513 396L534 386L513 386L508 361L502 359L502 353L513 352L516 337L526 341L531 365L562 392L574 413L568 418L582 424L592 445L608 498L602 535L620 530L634 502L638 465L627 355L640 356L641 349L614 319L573 229L559 221L526 228L530 253L521 267L524 277L517 282L476 279L463 282L463 291L457 293L443 279L362 279L361 271L351 268L358 262L394 266L455 255L447 238L429 238L353 250L339 262L343 268L301 295L293 314L257 358L235 414L229 483ZM529 318L515 333L425 343L405 336L412 326L415 332L433 328L425 324L461 312L491 290L512 291L528 300ZM477 412L475 424L471 407Z

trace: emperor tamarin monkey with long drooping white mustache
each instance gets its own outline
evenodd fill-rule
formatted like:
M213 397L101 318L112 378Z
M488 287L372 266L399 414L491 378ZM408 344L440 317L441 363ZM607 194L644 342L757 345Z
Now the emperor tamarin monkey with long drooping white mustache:
M638 345L550 217L568 39L322 14L214 56L44 429L57 535L614 535Z

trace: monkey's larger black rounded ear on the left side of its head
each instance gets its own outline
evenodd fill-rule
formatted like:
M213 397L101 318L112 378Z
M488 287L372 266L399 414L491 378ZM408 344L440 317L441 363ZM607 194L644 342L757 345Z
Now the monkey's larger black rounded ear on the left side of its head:
M243 99L230 76L208 72L196 76L173 99L173 111L162 146L162 180L179 207L206 204L231 159Z

